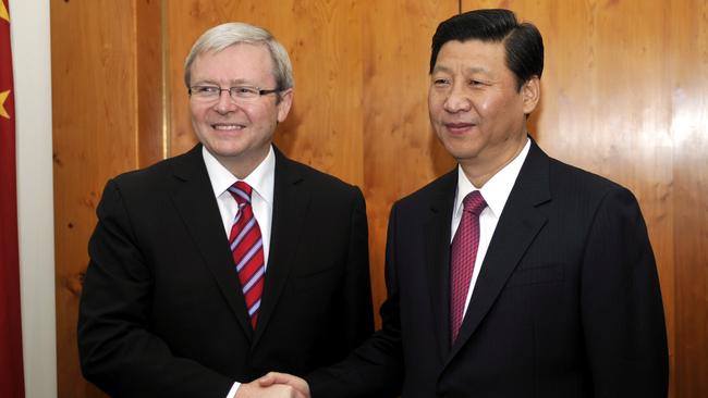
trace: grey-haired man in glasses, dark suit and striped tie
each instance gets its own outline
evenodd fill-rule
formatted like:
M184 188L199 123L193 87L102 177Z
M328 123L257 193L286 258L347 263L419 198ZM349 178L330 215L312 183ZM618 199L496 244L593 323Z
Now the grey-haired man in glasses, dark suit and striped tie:
M265 29L207 30L184 73L199 144L106 186L89 242L78 346L118 397L268 397L373 332L361 190L271 141L292 67Z

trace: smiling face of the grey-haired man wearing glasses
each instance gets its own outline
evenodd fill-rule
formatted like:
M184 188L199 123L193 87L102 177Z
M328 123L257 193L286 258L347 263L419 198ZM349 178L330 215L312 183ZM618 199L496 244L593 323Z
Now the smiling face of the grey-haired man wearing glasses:
M265 46L237 43L199 54L192 64L190 86L212 85L276 88L273 64ZM222 91L215 101L192 96L192 125L199 141L231 173L243 178L266 158L278 123L288 116L292 89L234 101Z

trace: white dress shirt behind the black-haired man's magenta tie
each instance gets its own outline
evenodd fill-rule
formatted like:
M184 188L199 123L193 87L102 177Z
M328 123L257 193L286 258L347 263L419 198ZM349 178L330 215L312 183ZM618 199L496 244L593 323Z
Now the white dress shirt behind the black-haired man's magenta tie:
M489 248L489 242L491 237L495 234L497 228L497 223L501 216L501 212L504 210L504 204L506 204L506 199L509 199L509 194L514 187L521 166L526 160L528 154L528 149L530 148L530 140L526 140L524 149L506 164L502 170L497 172L485 186L481 188L475 187L467 176L462 171L462 166L457 165L457 191L455 192L455 207L453 208L452 213L452 223L450 225L452 234L450 235L450 242L455 236L457 226L460 226L460 220L462 219L462 210L464 208L462 200L467 196L467 194L473 190L479 190L481 197L485 198L487 207L479 214L479 246L477 247L477 258L475 259L475 268L472 273L472 281L469 282L469 290L467 290L467 299L465 300L464 312L467 312L467 307L469 306L469 299L472 298L472 291L475 288L477 283L477 277L479 276L479 271L481 270L483 263L485 261L485 256L487 254L487 249Z

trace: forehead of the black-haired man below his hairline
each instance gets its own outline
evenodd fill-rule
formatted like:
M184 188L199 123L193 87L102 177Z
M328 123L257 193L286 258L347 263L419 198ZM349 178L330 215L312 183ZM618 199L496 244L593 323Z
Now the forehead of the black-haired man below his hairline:
M434 67L436 71L472 70L503 73L506 53L501 41L451 40L442 45Z

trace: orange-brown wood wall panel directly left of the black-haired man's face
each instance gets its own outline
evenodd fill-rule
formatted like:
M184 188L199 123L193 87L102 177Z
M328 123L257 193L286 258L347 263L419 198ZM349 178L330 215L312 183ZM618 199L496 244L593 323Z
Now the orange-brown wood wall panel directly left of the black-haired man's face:
M364 194L376 309L386 299L383 262L393 201L452 170L428 119L430 39L457 1L376 1L364 13ZM379 324L377 316L377 324Z

